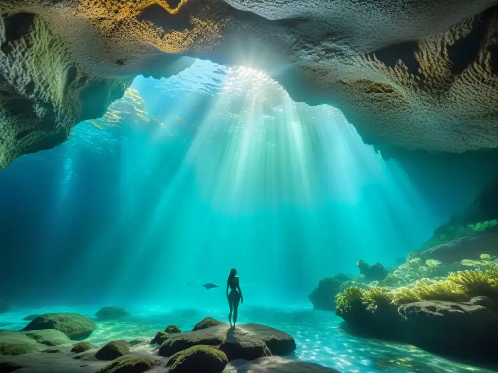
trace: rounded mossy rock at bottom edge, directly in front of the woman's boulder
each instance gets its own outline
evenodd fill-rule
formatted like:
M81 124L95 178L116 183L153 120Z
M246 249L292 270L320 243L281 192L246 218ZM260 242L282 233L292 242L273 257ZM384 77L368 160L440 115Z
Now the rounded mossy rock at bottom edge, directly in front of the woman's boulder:
M227 355L212 346L193 346L179 351L168 360L170 373L191 373L202 367L203 373L221 373L228 363Z

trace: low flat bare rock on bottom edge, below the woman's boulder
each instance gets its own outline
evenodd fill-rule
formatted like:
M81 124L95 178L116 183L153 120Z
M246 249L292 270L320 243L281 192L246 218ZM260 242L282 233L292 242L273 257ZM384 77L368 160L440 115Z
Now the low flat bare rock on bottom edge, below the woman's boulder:
M227 365L223 373L340 373L340 371L318 364L267 356L250 362L233 361Z

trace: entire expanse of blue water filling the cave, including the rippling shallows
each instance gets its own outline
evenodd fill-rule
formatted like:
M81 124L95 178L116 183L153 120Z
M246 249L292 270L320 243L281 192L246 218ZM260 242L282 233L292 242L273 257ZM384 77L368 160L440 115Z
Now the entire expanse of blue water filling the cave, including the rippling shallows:
M384 160L339 110L293 102L250 69L197 61L169 79L138 77L103 118L0 172L0 294L13 305L0 328L122 305L133 320L99 321L90 342L190 330L225 319L224 289L201 285L224 285L236 267L240 322L290 333L296 359L341 372L485 372L348 335L308 301L319 280L358 275L359 259L394 265L491 175L444 159Z

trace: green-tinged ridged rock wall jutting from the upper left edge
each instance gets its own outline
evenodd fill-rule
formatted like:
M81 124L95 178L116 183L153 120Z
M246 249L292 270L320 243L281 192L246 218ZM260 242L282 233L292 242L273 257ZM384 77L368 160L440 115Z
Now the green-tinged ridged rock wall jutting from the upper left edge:
M97 78L35 13L0 16L0 168L64 142L73 126L102 116L131 79Z

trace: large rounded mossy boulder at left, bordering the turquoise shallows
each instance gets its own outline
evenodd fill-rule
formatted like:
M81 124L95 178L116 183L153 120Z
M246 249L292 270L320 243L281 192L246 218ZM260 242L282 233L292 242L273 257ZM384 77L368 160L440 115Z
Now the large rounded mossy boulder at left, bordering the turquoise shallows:
M78 313L45 313L33 319L22 331L56 329L73 341L81 341L96 328L94 320Z

